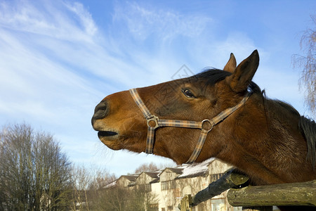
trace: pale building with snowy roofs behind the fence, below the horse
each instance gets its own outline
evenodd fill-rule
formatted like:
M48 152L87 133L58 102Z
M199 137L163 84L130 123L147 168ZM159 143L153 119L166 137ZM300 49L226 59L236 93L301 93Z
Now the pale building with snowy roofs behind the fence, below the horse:
M211 158L201 163L167 167L155 172L123 175L109 186L145 188L157 199L157 204L152 205L152 210L178 210L178 204L185 194L195 195L209 186L212 181L216 181L231 167L225 162ZM224 192L219 196L206 200L204 203L192 207L192 210L242 210L242 207L230 206L226 194L227 192Z

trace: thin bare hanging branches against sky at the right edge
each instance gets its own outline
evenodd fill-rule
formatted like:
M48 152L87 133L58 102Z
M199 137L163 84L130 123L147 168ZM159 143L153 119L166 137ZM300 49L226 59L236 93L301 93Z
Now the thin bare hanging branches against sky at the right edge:
M311 15L312 27L305 30L301 37L301 50L305 56L295 54L292 56L292 64L294 68L296 65L303 68L301 78L298 80L300 89L305 89L305 106L310 110L314 117L316 116L316 15Z

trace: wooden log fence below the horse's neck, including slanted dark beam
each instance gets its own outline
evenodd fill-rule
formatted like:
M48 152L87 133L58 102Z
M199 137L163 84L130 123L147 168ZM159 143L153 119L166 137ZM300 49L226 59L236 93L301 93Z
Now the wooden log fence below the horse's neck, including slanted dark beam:
M249 180L244 174L230 170L195 196L186 195L178 205L181 211L228 191L228 203L243 210L272 210L272 206L310 206L316 210L316 180L266 186L246 186ZM314 207L313 207L314 206ZM251 207L251 208L250 208Z

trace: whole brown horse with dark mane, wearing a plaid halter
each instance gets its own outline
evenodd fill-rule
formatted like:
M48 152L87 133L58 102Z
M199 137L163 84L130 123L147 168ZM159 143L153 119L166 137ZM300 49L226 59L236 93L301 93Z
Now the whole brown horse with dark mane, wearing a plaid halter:
M96 106L93 129L113 150L153 150L178 164L215 157L257 185L316 179L316 124L265 97L251 81L258 63L258 51L237 67L231 54L224 70L111 94Z

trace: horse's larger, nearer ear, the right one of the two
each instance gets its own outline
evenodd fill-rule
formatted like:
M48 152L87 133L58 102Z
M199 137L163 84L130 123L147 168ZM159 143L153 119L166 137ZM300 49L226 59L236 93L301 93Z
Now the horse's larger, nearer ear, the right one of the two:
M232 75L226 77L226 82L230 85L230 88L235 92L246 91L248 88L252 77L259 65L259 54L255 50L251 55L243 60L232 72Z

